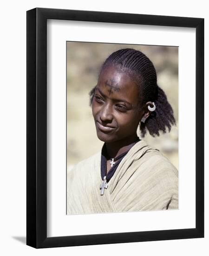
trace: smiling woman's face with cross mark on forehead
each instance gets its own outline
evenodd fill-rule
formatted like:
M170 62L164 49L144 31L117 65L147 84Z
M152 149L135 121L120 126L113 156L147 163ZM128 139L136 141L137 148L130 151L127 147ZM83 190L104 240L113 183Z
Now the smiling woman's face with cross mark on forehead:
M98 78L92 101L97 136L104 142L136 136L144 111L138 109L138 88L131 77L115 67L106 67Z

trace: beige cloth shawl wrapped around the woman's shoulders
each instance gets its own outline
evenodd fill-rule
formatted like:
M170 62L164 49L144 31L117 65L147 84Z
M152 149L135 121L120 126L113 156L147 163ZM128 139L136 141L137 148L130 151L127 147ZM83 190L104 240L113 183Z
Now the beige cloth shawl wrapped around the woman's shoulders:
M137 142L100 195L101 152L67 174L67 214L178 209L178 171L157 149Z

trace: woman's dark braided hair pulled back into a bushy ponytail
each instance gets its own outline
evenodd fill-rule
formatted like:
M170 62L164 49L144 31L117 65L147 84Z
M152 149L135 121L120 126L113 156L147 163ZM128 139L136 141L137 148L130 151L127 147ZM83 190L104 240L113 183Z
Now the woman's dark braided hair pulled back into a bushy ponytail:
M155 102L156 110L151 112L145 122L140 122L141 136L144 137L147 130L150 135L159 136L159 131L170 132L171 125L176 124L173 109L167 97L157 85L157 74L153 63L140 51L135 49L120 49L112 53L103 63L100 74L104 68L113 66L120 72L126 72L137 84L139 106L144 106L148 101ZM95 87L90 91L90 105L92 104Z

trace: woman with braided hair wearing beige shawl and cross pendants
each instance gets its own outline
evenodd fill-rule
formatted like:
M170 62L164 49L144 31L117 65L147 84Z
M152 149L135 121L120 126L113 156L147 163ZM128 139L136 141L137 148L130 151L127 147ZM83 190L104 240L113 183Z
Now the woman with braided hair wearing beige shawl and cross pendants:
M152 62L134 49L112 53L90 98L104 146L70 171L67 214L178 209L177 169L137 137L138 125L144 137L175 124Z

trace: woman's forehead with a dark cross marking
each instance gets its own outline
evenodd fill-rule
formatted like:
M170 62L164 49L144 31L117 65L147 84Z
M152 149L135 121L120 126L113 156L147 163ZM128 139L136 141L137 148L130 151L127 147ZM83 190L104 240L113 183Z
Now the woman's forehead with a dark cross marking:
M132 100L137 99L137 84L130 74L118 67L105 67L99 75L98 87L107 93L109 92L109 94L131 97Z

